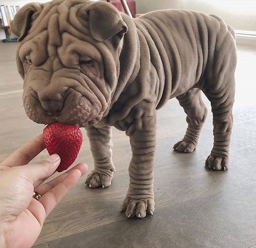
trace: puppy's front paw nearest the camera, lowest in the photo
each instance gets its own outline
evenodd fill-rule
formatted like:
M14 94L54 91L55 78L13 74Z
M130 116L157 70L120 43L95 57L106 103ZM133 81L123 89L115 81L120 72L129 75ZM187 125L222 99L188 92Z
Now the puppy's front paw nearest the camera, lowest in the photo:
M152 198L133 199L126 197L122 204L122 211L126 211L126 216L132 218L144 218L147 214L153 215L155 211L155 201Z

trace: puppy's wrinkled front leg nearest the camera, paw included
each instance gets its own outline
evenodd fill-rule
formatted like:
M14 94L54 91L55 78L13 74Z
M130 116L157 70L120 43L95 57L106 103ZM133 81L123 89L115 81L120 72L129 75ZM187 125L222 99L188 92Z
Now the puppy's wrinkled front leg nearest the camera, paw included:
M132 159L129 166L130 184L122 211L128 218L143 218L155 210L153 169L155 155L155 110L144 112L126 131L130 136Z

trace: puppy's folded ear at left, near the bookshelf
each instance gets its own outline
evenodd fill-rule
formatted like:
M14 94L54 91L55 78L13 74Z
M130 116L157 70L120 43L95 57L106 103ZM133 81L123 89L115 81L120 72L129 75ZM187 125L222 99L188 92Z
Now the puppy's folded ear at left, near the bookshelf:
M32 23L38 18L43 9L43 4L30 3L23 6L15 15L13 21L10 22L12 32L19 37L21 41L29 32Z

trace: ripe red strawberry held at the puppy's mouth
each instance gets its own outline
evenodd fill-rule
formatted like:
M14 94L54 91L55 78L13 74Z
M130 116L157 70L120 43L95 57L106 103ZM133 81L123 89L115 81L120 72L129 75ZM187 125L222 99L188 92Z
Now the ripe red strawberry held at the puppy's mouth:
M76 160L83 134L75 125L55 122L43 130L43 140L50 155L57 153L61 158L58 172L67 169Z

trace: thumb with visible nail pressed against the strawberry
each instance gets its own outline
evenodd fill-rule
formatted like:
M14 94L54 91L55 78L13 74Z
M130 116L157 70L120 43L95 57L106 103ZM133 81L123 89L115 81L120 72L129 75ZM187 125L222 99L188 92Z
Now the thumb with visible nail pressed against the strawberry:
M59 155L53 154L42 162L21 166L21 174L34 185L39 180L49 178L55 172L59 163Z

